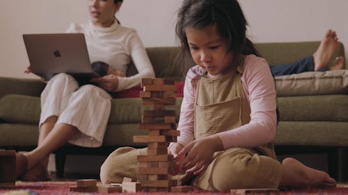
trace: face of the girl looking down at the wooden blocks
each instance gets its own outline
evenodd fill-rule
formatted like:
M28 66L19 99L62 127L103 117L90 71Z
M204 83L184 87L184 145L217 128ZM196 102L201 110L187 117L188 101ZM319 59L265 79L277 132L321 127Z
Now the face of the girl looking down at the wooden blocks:
M232 65L233 52L227 53L226 41L219 35L216 25L187 27L184 32L193 60L209 74L221 74Z

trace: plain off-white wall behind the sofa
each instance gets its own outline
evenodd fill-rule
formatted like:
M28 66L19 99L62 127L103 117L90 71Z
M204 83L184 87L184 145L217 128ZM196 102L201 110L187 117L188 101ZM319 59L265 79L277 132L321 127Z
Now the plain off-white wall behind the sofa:
M88 22L88 0L1 0L0 76L30 77L24 33L60 33L70 22ZM118 12L124 26L136 28L145 46L175 45L175 13L182 0L125 0ZM239 0L254 42L321 40L338 31L348 48L347 0ZM346 56L348 56L346 49Z

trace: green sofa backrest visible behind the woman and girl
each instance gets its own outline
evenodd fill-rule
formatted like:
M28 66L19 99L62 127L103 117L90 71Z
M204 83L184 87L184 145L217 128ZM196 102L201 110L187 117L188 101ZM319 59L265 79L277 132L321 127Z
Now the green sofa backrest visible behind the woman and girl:
M269 65L285 65L290 62L295 62L306 56L313 55L317 50L320 42L279 42L279 43L259 43L255 44L256 49L265 58ZM180 60L177 60L179 49L175 46L164 47L149 47L146 49L152 66L155 69L155 74L158 78L173 77L182 80L184 77L181 74ZM331 62L336 56L345 56L345 48L340 42L338 51L331 59ZM192 65L195 65L191 58L186 59ZM347 65L346 65L347 69ZM130 65L127 71L127 76L136 74L134 65Z

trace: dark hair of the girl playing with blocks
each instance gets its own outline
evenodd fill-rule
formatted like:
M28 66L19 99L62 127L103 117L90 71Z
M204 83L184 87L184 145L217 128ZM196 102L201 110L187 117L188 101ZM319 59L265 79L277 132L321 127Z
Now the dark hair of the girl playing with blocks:
M237 0L184 0L175 26L182 48L180 58L187 58L189 53L185 28L205 28L213 24L228 43L228 51L260 56L253 43L246 38L248 22Z

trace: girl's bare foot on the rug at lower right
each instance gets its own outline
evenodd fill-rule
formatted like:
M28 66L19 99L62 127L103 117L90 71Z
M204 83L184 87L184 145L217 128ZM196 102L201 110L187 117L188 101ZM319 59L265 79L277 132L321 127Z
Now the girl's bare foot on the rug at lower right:
M336 181L328 173L306 167L294 158L285 158L283 164L283 176L280 187L290 188L329 188L335 187Z

